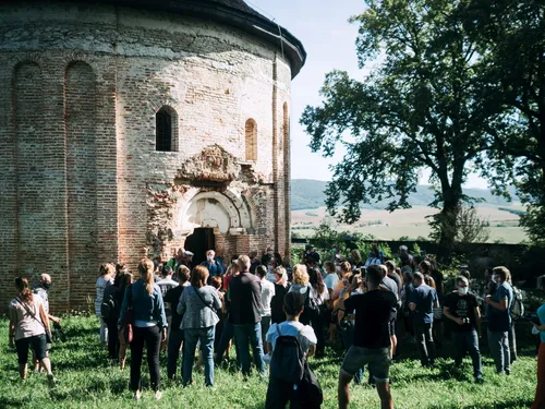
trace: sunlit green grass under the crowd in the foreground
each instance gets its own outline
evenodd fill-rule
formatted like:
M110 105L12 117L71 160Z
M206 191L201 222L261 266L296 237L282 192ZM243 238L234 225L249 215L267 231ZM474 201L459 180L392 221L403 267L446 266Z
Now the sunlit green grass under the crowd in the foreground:
M51 353L53 371L59 378L49 389L45 375L31 374L25 383L19 380L16 354L8 348L8 322L0 321L0 408L132 408L128 389L129 370L121 372L106 359L98 344L95 317L66 317L63 327L69 340L58 344ZM410 349L409 347L405 348ZM324 389L323 408L337 407L337 375L341 354L328 350L328 358L312 360ZM528 408L535 393L535 357L532 348L512 368L510 377L495 374L492 360L484 357L485 384L472 382L471 363L463 371L453 371L451 360L438 360L434 370L422 369L415 360L404 360L391 369L396 408ZM165 370L166 357L161 358ZM144 383L148 384L144 366ZM162 373L166 378L165 372ZM216 386L204 386L202 372L194 374L196 385L182 388L180 384L164 383L164 397L157 402L145 390L137 405L141 408L191 409L257 409L264 407L267 384L257 377L244 382L229 370L216 371ZM368 385L352 385L351 408L378 408L376 390Z

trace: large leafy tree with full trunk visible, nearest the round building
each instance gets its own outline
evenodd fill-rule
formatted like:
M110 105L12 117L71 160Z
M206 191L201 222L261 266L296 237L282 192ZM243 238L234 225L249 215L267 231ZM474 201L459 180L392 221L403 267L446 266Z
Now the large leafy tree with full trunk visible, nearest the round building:
M488 128L497 110L485 104L482 61L468 36L461 0L383 0L366 2L356 40L360 68L376 64L361 80L334 71L322 88L324 103L306 107L301 123L311 148L334 154L327 206L354 222L361 203L389 197L388 209L409 207L419 172L428 169L440 212L441 258L449 256L470 171L483 165ZM338 205L341 205L340 210ZM401 233L401 232L400 232Z

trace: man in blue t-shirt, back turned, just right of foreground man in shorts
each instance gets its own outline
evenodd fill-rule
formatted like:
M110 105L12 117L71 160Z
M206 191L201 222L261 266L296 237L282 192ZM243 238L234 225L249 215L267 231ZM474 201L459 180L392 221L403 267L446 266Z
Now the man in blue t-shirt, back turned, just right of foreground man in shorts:
M435 342L433 337L434 306L439 306L437 292L424 282L424 275L414 273L414 291L409 299L409 309L413 313L414 335L420 349L423 366L435 365Z

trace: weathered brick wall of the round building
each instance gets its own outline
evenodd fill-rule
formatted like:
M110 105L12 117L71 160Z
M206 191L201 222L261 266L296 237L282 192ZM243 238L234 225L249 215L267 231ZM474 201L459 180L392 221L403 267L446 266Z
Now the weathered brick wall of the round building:
M170 256L196 227L214 228L226 258L289 254L291 71L279 47L108 5L0 14L0 311L13 278L37 272L53 278L53 310L85 306L98 264L134 269L144 248ZM155 151L162 106L177 112L178 152Z

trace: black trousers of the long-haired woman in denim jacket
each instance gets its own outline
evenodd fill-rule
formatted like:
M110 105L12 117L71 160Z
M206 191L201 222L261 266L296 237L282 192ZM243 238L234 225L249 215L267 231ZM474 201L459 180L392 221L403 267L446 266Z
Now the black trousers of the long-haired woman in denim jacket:
M134 326L134 337L131 342L131 389L141 389L142 356L144 344L147 346L147 364L152 389L158 390L161 381L159 370L159 348L161 346L161 329L157 326L140 328Z

